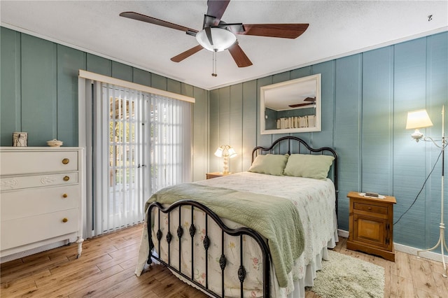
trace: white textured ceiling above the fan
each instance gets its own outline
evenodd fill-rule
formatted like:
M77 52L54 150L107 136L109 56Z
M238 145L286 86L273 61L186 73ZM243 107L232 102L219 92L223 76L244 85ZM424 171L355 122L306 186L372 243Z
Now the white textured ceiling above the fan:
M183 31L120 17L134 11L200 30L207 1L0 1L1 25L137 66L207 90L448 30L448 1L241 1L225 22L309 23L296 39L237 36L253 62L238 68L228 51L201 50ZM428 21L428 15L433 15Z

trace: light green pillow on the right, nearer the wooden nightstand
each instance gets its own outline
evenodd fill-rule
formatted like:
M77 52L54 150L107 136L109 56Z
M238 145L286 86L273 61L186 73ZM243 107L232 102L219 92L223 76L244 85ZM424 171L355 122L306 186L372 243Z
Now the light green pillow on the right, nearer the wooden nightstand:
M288 158L286 176L325 179L335 157L329 155L292 154Z

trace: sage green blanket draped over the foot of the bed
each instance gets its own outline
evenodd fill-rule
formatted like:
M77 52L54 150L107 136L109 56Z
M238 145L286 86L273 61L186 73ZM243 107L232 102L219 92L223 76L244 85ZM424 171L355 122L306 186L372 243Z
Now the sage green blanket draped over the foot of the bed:
M268 239L277 280L282 288L286 288L293 262L304 249L302 222L297 208L290 200L184 183L156 192L146 202L146 208L153 201L173 204L181 199L194 199L209 207L219 217L250 227Z

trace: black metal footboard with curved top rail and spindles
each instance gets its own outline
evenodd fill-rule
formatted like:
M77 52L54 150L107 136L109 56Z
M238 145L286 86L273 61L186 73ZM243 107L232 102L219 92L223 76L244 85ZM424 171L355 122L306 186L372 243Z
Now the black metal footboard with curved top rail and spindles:
M157 255L154 255L154 243L152 241L152 225L151 223L153 222L153 218L152 218L152 214L153 214L153 208L157 208L158 212L158 232L156 233L156 238L158 239L158 252L160 252L160 243L161 241L166 241L167 246L168 246L168 262L165 262L164 260L161 260L161 257L158 257ZM179 264L177 264L179 266L179 269L174 267L174 264L171 264L171 246L172 246L172 240L174 235L172 235L170 231L170 225L171 225L171 221L172 221L172 216L170 212L176 210L176 208L178 208L179 210L179 227L177 228L177 237L179 238ZM182 222L182 212L181 209L182 208L189 208L191 210L191 225L190 228L188 229L188 233L185 233L183 231L183 227L181 225ZM196 227L195 227L195 220L194 220L194 210L195 208L200 209L201 211L203 211L205 213L205 236L204 236L204 241L203 241L203 245L204 245L204 249L205 249L205 272L206 272L206 277L205 277L205 285L202 285L201 283L199 283L198 281L195 281L195 276L194 276L194 257L195 257L195 246L193 244L193 237L196 234ZM151 264L151 258L153 258L154 260L158 260L158 262L164 264L165 266L169 267L169 269L172 269L172 271L176 272L176 274L179 274L180 276L182 276L183 278L188 279L188 281L191 281L192 283L194 283L195 285L197 285L197 287L201 288L202 290L206 291L207 293L209 293L210 295L214 296L214 297L225 297L225 269L226 269L226 264L228 262L228 258L226 257L225 253L224 253L224 235L228 234L230 236L239 236L239 246L240 246L240 266L237 272L235 272L235 274L237 274L239 281L240 281L240 292L241 292L241 297L243 296L243 292L244 292L244 279L246 278L246 269L244 268L243 264L244 264L244 260L243 260L243 255L244 255L244 251L243 251L243 236L249 236L252 239L254 239L257 243L258 246L260 246L260 250L262 252L262 278L263 278L263 297L269 297L269 292L270 292L270 288L269 288L269 270L270 270L270 255L269 255L269 248L267 246L267 243L265 242L265 240L262 238L262 236L260 236L260 234L258 234L257 232L255 232L253 229L249 229L247 227L240 227L238 229L230 229L229 227L227 227L223 221L221 220L221 218L218 217L218 215L216 215L213 211L211 211L210 208L208 208L207 206L204 206L203 204L198 203L197 201L190 201L190 200L181 200L181 201L177 201L176 203L172 204L171 206L168 206L167 208L164 208L160 203L158 202L153 202L152 204L150 204L150 206L148 207L148 218L147 218L147 223L148 223L148 241L149 241L149 247L150 247L150 253L149 253L149 257L148 257L148 264ZM162 231L160 230L160 215L161 213L167 213L168 214L168 232L166 234L163 234ZM218 225L218 227L221 228L221 235L209 235L208 233L208 220L211 219L214 222L216 222L216 224ZM185 219L184 219L185 220ZM183 239L183 237L191 237L191 262L192 262L192 266L191 266L191 275L189 276L188 274L185 274L182 272L181 270L181 239ZM212 237L216 237L216 238L212 238ZM209 276L209 264L208 264L208 250L209 250L209 246L211 244L211 242L213 243L221 243L221 258L219 260L219 264L221 267L221 284L222 284L222 289L221 289L221 293L216 293L213 290L211 290L209 288L209 280L208 280L208 276ZM173 244L174 245L174 244Z

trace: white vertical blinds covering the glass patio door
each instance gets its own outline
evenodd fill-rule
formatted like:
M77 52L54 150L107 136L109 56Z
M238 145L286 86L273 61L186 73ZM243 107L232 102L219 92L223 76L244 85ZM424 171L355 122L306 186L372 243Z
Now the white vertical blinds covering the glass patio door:
M142 222L151 194L192 180L190 102L94 82L91 104L87 237Z

